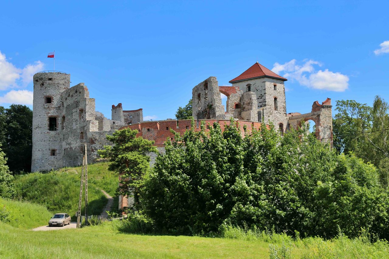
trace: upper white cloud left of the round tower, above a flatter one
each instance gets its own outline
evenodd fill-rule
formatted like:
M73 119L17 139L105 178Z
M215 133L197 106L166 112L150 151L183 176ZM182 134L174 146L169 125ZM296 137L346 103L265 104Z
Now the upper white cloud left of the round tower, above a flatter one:
M36 61L25 68L17 68L7 60L5 54L0 51L0 90L14 87L26 87L36 72L43 70L44 64Z

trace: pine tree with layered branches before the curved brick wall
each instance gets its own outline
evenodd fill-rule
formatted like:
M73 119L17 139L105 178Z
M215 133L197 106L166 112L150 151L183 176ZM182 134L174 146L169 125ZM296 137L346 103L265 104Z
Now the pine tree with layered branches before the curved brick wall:
M112 135L107 135L107 140L114 145L104 146L103 150L98 151L101 158L112 162L108 169L120 175L119 192L134 197L135 207L143 177L150 170L150 158L147 154L158 152L153 146L154 141L136 137L137 133L136 129L117 130Z

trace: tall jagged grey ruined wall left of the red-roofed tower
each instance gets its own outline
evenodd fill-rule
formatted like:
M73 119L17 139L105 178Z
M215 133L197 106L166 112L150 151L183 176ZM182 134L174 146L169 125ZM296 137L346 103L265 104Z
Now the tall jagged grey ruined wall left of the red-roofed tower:
M224 118L216 77L209 77L192 90L192 116L194 119Z

